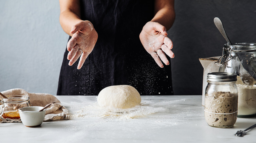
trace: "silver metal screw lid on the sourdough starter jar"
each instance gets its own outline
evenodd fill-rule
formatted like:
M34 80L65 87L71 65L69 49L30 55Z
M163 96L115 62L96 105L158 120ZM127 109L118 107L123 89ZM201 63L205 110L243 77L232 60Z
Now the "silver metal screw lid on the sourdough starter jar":
M208 81L233 82L237 81L237 74L232 72L212 72L208 73Z

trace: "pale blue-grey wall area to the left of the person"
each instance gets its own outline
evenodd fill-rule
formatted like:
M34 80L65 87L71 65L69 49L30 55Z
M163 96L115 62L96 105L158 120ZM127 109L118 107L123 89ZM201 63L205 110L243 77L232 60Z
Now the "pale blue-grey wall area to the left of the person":
M58 0L0 1L0 91L56 95L68 40Z

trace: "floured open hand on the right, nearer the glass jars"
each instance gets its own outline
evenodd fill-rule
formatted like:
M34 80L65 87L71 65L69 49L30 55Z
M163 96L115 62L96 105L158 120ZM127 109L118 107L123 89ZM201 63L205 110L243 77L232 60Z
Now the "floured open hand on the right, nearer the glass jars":
M165 54L174 58L171 51L173 42L167 37L166 28L157 22L148 22L144 25L139 39L145 50L154 58L159 67L163 68L163 63L169 65Z

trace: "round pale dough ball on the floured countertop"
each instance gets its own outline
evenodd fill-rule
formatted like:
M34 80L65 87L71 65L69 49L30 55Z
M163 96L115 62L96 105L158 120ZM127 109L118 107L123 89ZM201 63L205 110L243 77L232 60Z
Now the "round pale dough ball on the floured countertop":
M98 104L108 110L127 109L140 104L139 92L129 85L109 86L99 92Z

